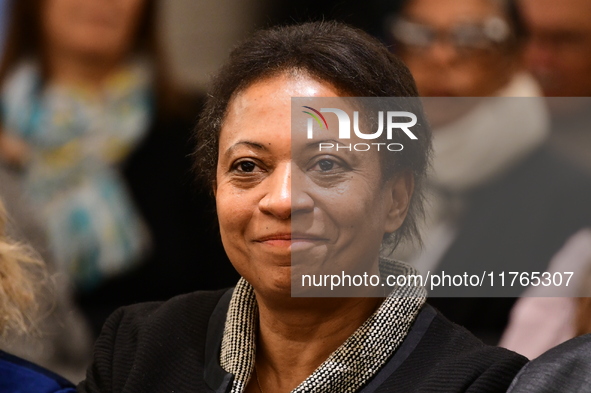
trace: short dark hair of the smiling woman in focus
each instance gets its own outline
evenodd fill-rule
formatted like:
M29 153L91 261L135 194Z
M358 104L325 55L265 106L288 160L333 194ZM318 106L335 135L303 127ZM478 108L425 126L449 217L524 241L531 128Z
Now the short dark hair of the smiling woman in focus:
M206 187L212 189L215 184L220 131L232 98L257 81L292 71L326 81L343 96L418 95L408 68L361 30L338 22L311 22L259 31L232 51L214 78L195 129L195 169ZM385 239L392 248L405 238L420 242L416 222L423 213L421 191L429 164L431 132L420 102L413 101L413 113L419 119L413 132L417 131L418 140L402 152L382 152L381 158L384 178L411 172L415 184L404 224Z

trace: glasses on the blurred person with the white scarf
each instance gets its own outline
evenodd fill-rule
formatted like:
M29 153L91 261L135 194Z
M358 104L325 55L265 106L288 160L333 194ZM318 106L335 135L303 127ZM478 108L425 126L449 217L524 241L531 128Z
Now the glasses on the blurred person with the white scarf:
M434 27L398 17L390 23L393 38L408 48L426 50L436 42L447 42L458 52L490 49L505 43L511 29L505 20L493 16L480 22L458 23L450 29Z

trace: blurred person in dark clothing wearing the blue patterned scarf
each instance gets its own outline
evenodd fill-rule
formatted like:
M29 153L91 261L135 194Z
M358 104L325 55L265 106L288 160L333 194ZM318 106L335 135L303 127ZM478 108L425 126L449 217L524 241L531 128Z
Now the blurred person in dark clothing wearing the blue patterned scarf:
M14 2L0 65L0 158L95 332L122 304L236 279L188 186L199 100L170 80L156 16L153 0Z

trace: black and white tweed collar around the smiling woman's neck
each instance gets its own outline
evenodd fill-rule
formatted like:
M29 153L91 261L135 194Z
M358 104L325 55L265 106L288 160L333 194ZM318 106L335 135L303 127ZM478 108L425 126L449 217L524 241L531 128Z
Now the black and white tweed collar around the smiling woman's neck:
M391 260L381 260L380 270L382 274L419 274ZM425 300L422 286L393 287L378 310L292 393L358 391L400 346ZM222 368L234 374L232 393L242 393L252 374L257 318L254 290L240 279L230 301L220 355Z

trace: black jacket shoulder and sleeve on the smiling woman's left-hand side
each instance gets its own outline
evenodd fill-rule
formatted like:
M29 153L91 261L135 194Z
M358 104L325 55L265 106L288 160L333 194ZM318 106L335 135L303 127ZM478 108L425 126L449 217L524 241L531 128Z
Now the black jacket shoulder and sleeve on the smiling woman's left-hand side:
M204 353L212 312L226 290L118 309L95 343L82 393L208 392Z

